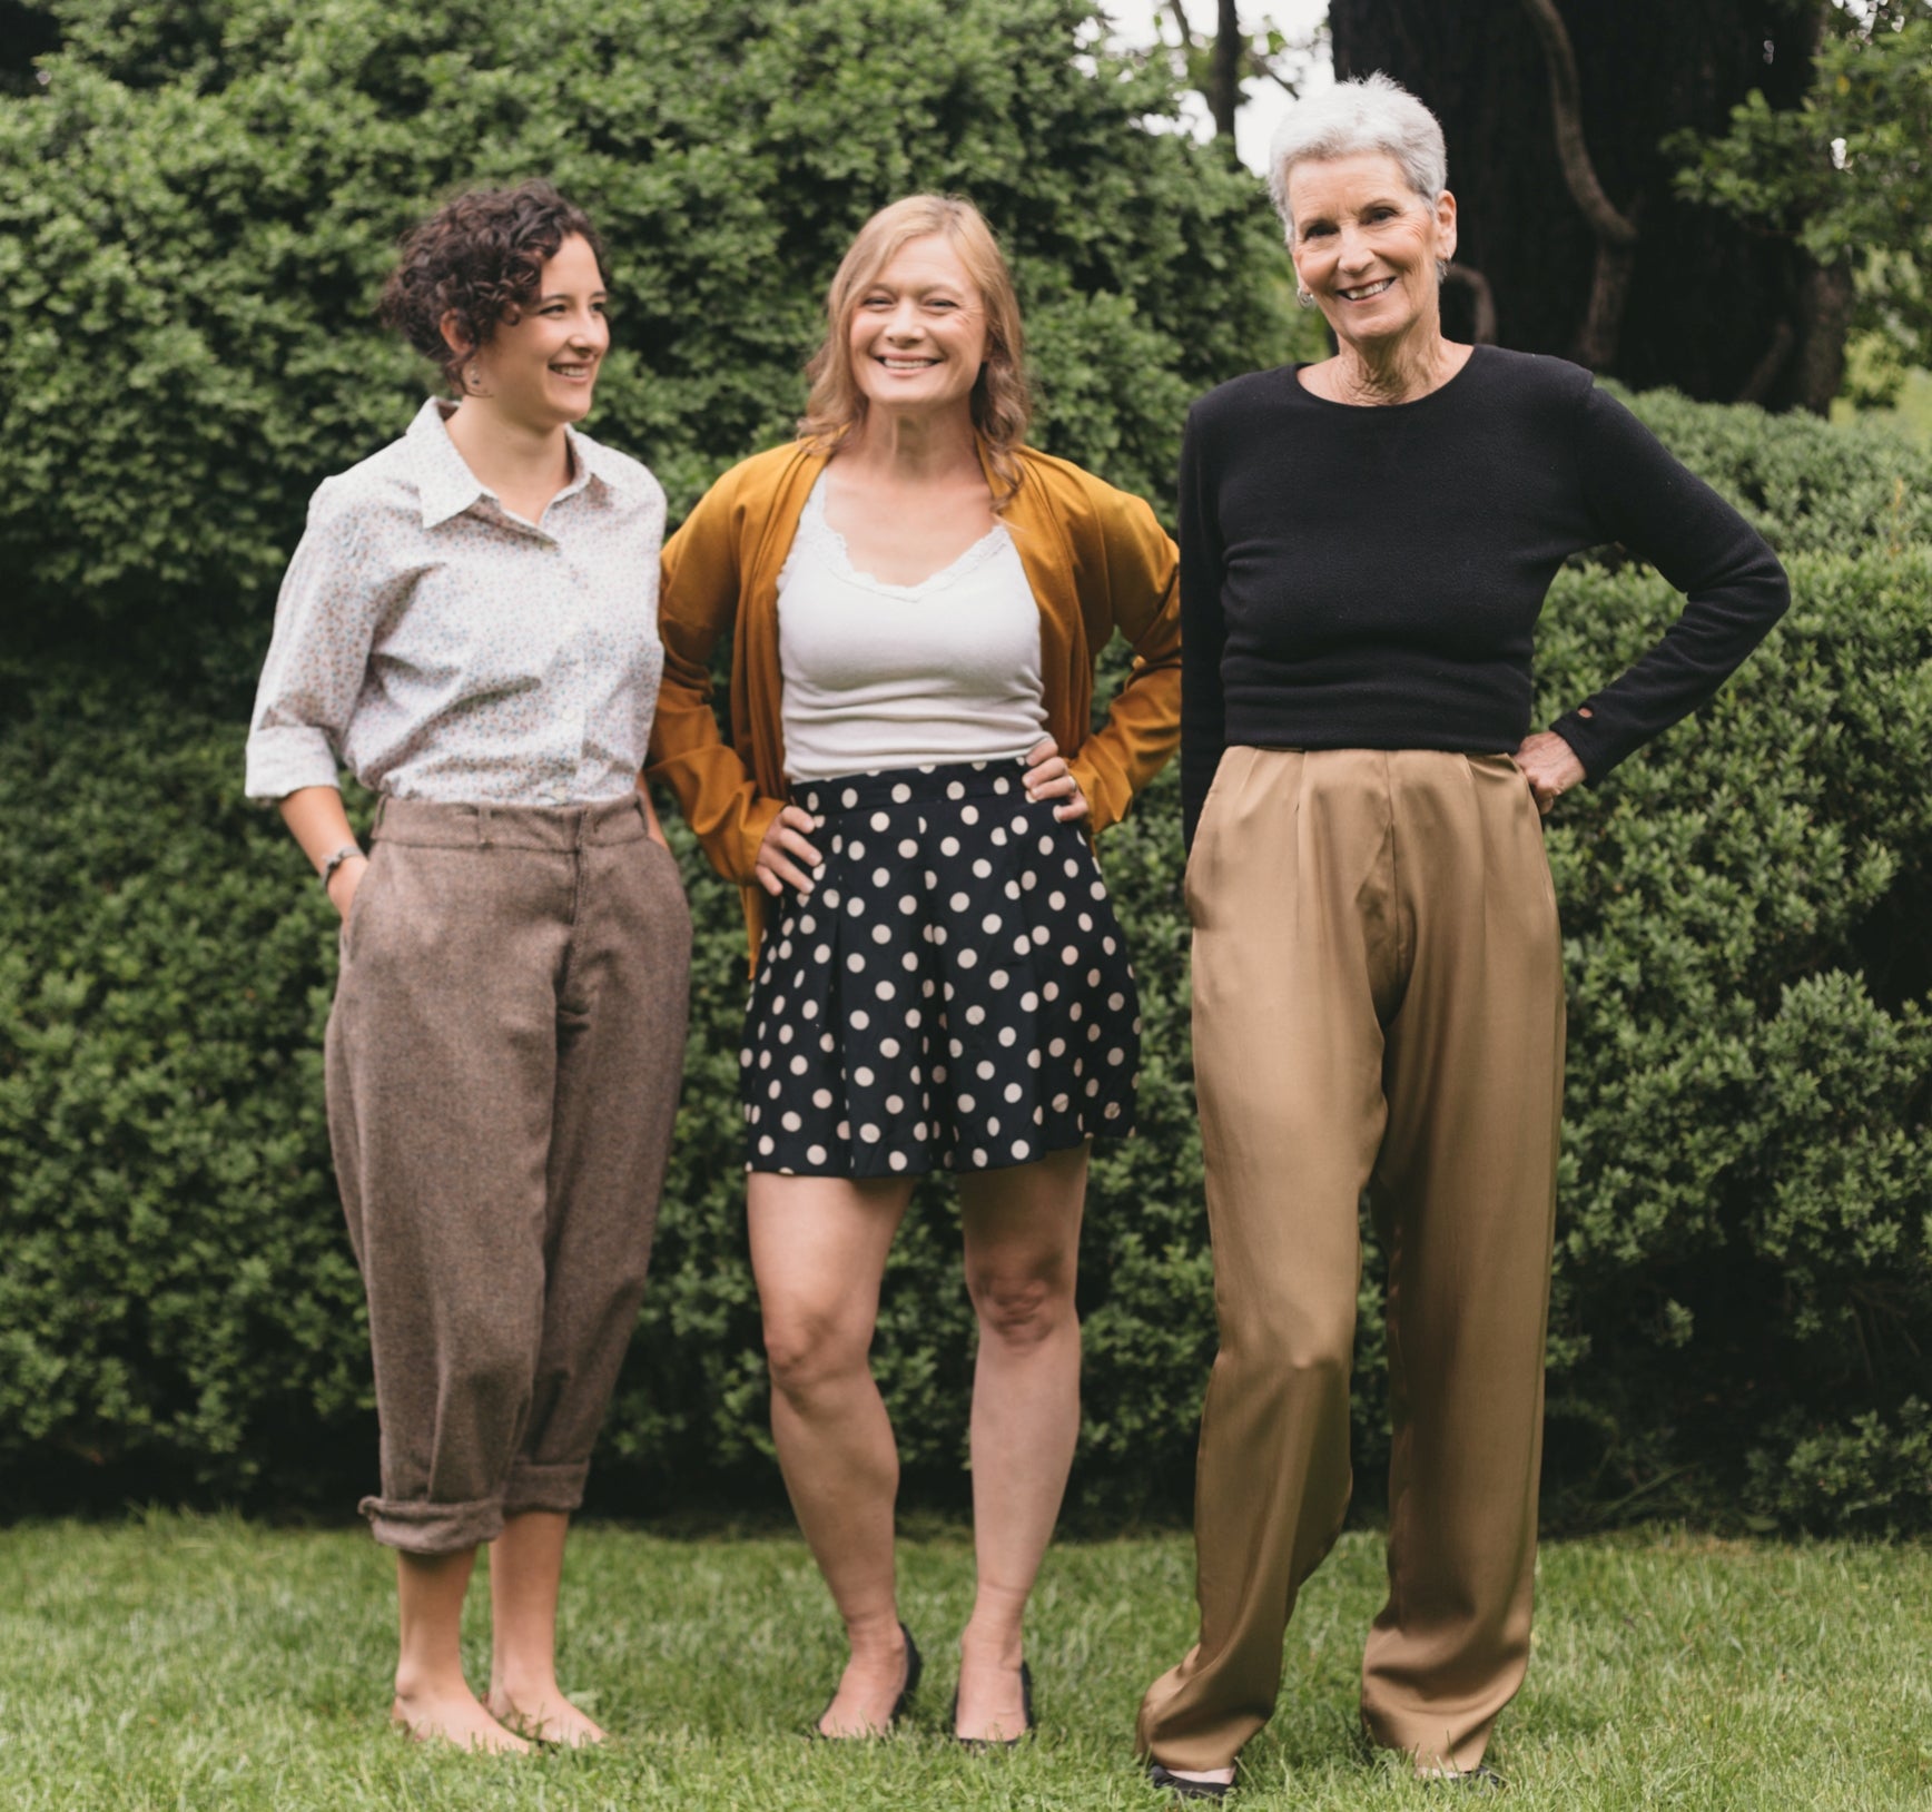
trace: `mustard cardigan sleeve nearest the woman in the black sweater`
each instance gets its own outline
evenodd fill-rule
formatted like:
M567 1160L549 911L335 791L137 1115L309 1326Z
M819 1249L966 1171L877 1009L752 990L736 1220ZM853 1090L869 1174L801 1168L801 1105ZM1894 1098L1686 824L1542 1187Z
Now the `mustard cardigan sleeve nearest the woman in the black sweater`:
M1180 742L1180 568L1175 543L1138 496L1094 485L1107 614L1134 665L1107 721L1066 763L1088 798L1094 835L1126 817Z

